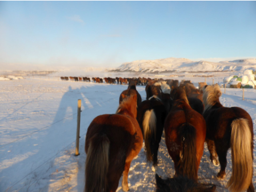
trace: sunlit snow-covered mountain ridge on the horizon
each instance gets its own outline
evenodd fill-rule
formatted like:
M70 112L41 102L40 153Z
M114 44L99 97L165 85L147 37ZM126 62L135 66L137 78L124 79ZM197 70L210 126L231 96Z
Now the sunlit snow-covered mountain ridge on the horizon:
M243 71L256 69L256 59L238 59L234 61L191 61L186 58L166 58L155 60L138 60L123 63L114 71L134 71L144 73L175 72L213 72L213 71Z

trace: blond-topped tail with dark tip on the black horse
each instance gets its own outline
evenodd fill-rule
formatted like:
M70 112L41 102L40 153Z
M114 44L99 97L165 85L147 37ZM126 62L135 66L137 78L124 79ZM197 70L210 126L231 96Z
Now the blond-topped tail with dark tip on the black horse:
M157 117L155 117L154 109L147 110L143 118L143 133L146 148L147 161L152 161L151 143L157 137Z

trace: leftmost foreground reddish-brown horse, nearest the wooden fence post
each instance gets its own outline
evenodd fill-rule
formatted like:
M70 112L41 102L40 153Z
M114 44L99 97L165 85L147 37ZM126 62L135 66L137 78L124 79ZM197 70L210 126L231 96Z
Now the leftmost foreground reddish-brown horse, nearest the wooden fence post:
M85 191L116 191L123 174L122 189L128 191L131 161L139 154L143 136L136 120L137 95L127 97L116 114L99 115L87 129Z

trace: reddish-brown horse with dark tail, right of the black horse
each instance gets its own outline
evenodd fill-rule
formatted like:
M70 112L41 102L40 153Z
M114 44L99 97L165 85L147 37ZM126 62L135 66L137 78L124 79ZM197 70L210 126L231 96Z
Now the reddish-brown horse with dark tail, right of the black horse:
M175 175L197 179L205 136L203 116L184 99L175 101L165 120L165 141L174 161Z

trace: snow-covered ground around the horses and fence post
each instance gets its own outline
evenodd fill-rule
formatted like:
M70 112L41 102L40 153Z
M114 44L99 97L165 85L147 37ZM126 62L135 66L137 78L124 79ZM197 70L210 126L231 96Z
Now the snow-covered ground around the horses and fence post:
M189 79L195 86L205 81L205 78ZM215 78L214 82L222 79ZM207 79L207 83L212 83L212 79ZM115 113L119 95L125 89L126 85L39 78L0 82L0 191L83 191L87 127L98 115ZM145 86L138 86L137 90L145 100ZM226 89L221 97L224 106L242 107L251 115L254 134L255 92L245 90L245 101L242 101L242 89ZM74 157L78 99L82 99L81 155ZM160 144L157 173L161 177L173 177L174 163L167 152L165 138ZM255 154L254 150L254 157ZM230 150L227 160L227 177L225 181L217 181L215 175L220 167L210 162L205 146L198 177L225 186L231 170ZM154 175L142 148L131 163L130 191L155 191ZM122 178L117 191L122 191L121 182ZM255 160L253 183L256 187ZM218 187L218 191L226 190Z

